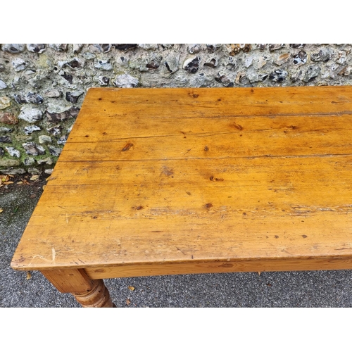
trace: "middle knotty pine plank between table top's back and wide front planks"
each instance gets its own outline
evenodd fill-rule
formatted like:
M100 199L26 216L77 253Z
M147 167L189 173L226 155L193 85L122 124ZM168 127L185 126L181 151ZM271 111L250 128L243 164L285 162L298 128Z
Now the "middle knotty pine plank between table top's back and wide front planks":
M184 120L187 120L185 126L182 125ZM175 121L167 123L163 120L160 125L152 124L153 129L149 131L149 136L145 121L140 125L137 122L133 123L129 128L122 122L121 125L120 122L115 122L111 130L125 131L120 132L120 139L108 135L108 139L115 138L115 142L96 142L99 136L103 135L99 127L96 127L96 134L87 134L89 136L87 139L92 138L92 142L66 144L59 161L166 160L352 153L350 137L352 115L310 119L301 116L290 120L287 117L275 120L258 117L246 118L251 120L248 122L222 120L219 124L215 123L214 119L184 120L179 123ZM212 132L213 125L215 127ZM104 126L103 130L106 130L105 127L107 126ZM87 121L77 128L92 132L92 127L89 127ZM203 132L200 132L201 130ZM116 135L118 132L114 133ZM156 137L151 136L153 133L156 133ZM127 137L128 135L132 137ZM75 141L74 130L73 137L70 138L72 142ZM77 137L77 141L82 141L82 137Z

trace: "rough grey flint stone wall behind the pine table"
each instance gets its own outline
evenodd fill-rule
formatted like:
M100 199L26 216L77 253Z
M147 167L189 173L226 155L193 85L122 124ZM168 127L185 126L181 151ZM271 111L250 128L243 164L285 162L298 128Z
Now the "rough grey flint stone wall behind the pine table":
M1 44L0 173L51 173L90 87L349 85L352 44Z

